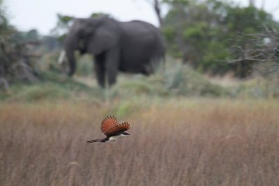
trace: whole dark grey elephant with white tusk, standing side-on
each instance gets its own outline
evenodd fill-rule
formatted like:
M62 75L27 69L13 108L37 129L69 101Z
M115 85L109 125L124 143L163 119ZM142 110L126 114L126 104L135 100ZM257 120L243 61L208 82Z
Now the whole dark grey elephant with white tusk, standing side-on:
M98 84L116 83L118 72L150 75L165 57L160 30L147 22L111 17L75 18L64 40L68 75L75 73L75 51L94 56Z

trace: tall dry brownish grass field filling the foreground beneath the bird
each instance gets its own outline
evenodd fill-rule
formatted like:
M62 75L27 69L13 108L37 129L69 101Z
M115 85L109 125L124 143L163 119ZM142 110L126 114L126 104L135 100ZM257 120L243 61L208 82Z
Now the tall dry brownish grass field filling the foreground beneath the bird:
M279 185L278 105L151 102L119 118L130 137L86 144L110 108L1 104L0 185Z

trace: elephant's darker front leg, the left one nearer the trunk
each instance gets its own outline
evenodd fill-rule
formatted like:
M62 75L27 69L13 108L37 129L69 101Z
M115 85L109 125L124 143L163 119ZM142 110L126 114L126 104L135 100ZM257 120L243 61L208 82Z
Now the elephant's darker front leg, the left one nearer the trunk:
M103 54L95 56L94 68L98 84L105 88L105 56Z

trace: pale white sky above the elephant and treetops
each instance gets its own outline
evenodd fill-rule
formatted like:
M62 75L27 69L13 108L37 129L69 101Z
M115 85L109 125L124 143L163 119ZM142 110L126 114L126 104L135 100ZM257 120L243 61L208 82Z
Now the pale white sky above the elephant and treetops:
M143 20L158 26L158 20L147 0L4 0L11 23L22 31L37 29L50 33L57 13L88 17L93 12L109 13L117 20ZM247 6L249 0L233 0ZM279 21L278 0L255 0L257 7L272 13Z

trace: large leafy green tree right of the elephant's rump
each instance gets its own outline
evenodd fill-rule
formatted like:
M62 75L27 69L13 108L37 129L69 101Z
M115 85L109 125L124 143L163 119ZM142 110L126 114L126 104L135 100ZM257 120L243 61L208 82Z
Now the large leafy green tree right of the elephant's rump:
M250 48L241 34L262 33L264 24L276 25L271 15L254 6L239 7L219 0L165 1L169 12L164 18L163 33L169 54L183 59L202 72L223 74L233 71L246 77L250 65L227 64L241 54L232 46Z

